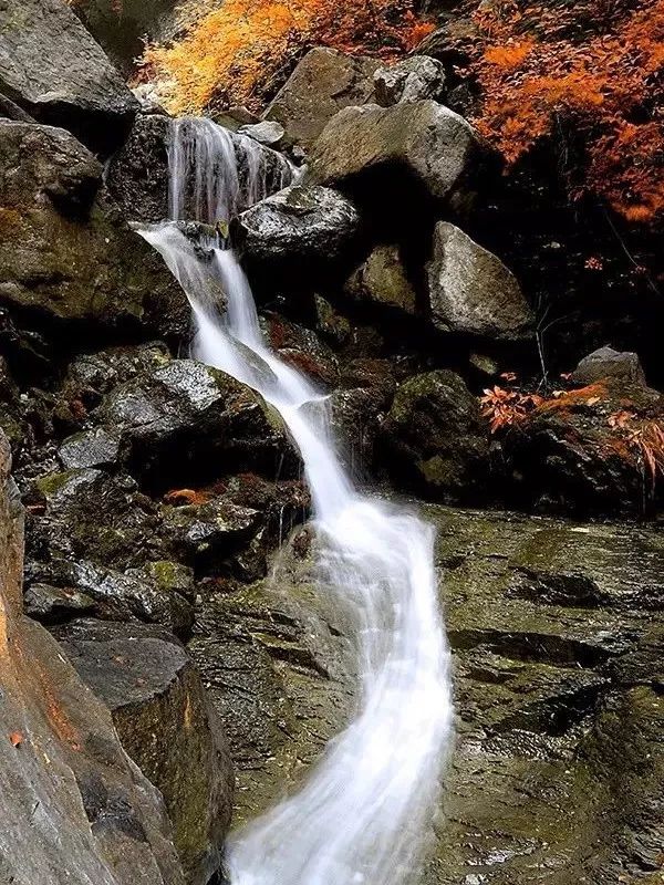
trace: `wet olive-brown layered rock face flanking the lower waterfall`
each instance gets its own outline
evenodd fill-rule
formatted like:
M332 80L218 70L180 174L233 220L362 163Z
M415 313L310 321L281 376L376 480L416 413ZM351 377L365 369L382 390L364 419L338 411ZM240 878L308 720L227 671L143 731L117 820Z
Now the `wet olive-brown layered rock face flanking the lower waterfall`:
M457 710L422 882L646 882L664 826L661 532L422 516L437 529ZM191 644L228 722L238 824L300 783L355 708L353 628L315 586L310 542L304 530L282 551L279 594L208 598Z

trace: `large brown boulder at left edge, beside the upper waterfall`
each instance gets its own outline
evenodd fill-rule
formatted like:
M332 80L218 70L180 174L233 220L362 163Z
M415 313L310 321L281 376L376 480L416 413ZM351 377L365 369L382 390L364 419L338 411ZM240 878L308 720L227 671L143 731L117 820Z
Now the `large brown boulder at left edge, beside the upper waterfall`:
M65 322L179 337L181 289L101 186L102 167L63 129L0 121L0 303L59 343Z

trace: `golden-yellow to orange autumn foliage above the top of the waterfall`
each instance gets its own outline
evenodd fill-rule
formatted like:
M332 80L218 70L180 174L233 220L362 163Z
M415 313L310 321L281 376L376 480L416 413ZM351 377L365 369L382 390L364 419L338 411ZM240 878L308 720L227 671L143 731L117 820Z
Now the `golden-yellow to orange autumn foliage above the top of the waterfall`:
M225 0L173 45L148 46L144 76L173 113L260 110L314 45L395 58L430 30L412 0Z

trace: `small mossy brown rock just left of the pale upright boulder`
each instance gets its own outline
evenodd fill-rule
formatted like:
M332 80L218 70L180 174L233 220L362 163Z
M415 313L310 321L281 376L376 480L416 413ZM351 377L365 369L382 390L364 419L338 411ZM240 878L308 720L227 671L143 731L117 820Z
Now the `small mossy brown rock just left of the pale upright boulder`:
M392 308L413 316L417 294L396 246L377 246L346 281L344 293L355 301Z

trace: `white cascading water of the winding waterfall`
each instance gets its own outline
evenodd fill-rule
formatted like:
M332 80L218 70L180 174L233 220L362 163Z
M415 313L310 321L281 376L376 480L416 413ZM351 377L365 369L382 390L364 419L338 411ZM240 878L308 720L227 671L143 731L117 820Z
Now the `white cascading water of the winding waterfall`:
M172 206L183 207L194 171L197 220L216 222L237 196L225 148L208 122L175 125ZM203 140L191 140L200 126ZM231 190L235 184L231 184ZM212 195L209 197L208 195ZM179 210L174 211L179 217ZM224 216L222 216L224 217ZM227 217L227 216L226 216ZM282 415L311 488L325 585L352 611L362 679L359 710L303 789L235 834L232 885L404 885L418 868L439 794L452 730L449 653L438 610L434 532L407 511L357 491L336 456L324 397L261 337L242 270L212 239L194 244L176 225L146 228L186 291L194 355L257 388ZM227 296L221 313L210 293ZM312 405L314 404L314 405ZM303 406L307 406L303 408Z

